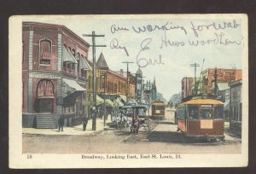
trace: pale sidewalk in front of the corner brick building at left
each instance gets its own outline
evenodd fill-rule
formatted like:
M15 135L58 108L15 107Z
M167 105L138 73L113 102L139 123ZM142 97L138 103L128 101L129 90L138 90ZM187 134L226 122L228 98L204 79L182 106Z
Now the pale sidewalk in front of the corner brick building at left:
M22 134L31 134L31 135L65 135L65 136L79 136L79 135L88 135L96 132L103 131L108 128L111 123L111 116L108 115L106 119L106 124L104 127L104 119L96 119L96 131L92 131L92 119L88 120L86 126L86 131L83 131L83 125L76 125L73 127L63 127L63 131L58 132L58 129L35 129L35 128L22 128Z

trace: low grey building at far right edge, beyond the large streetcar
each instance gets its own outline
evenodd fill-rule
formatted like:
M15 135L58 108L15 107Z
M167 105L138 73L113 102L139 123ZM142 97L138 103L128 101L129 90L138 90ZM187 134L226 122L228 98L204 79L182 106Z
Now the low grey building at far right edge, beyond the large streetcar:
M230 83L230 130L241 134L242 82Z

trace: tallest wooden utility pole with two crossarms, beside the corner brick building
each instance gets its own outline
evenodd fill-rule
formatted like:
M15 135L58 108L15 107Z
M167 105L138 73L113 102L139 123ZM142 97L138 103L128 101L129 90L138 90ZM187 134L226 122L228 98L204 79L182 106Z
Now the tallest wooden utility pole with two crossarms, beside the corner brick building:
M93 117L92 117L92 131L96 131L96 47L106 47L106 45L96 45L96 37L105 37L105 35L96 35L95 31L92 31L92 34L83 34L83 37L92 38L92 59L93 59Z

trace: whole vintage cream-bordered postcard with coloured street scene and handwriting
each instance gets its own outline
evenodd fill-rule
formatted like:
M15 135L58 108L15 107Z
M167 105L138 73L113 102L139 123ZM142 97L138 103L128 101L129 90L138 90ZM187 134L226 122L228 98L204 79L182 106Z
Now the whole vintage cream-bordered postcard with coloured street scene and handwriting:
M9 19L9 167L241 167L247 14Z

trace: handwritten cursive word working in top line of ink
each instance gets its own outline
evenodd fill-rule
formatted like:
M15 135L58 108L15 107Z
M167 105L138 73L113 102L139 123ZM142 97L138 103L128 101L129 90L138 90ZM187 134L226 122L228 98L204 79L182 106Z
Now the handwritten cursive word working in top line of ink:
M164 24L162 26L148 24L146 26L141 26L141 27L137 27L137 28L135 26L132 26L132 29L133 29L134 32L137 32L137 33L140 33L140 32L154 32L155 30L166 31L166 30L180 29L185 34L187 34L187 31L186 31L184 26L171 26L171 25L172 25L172 22L166 22L166 24Z

